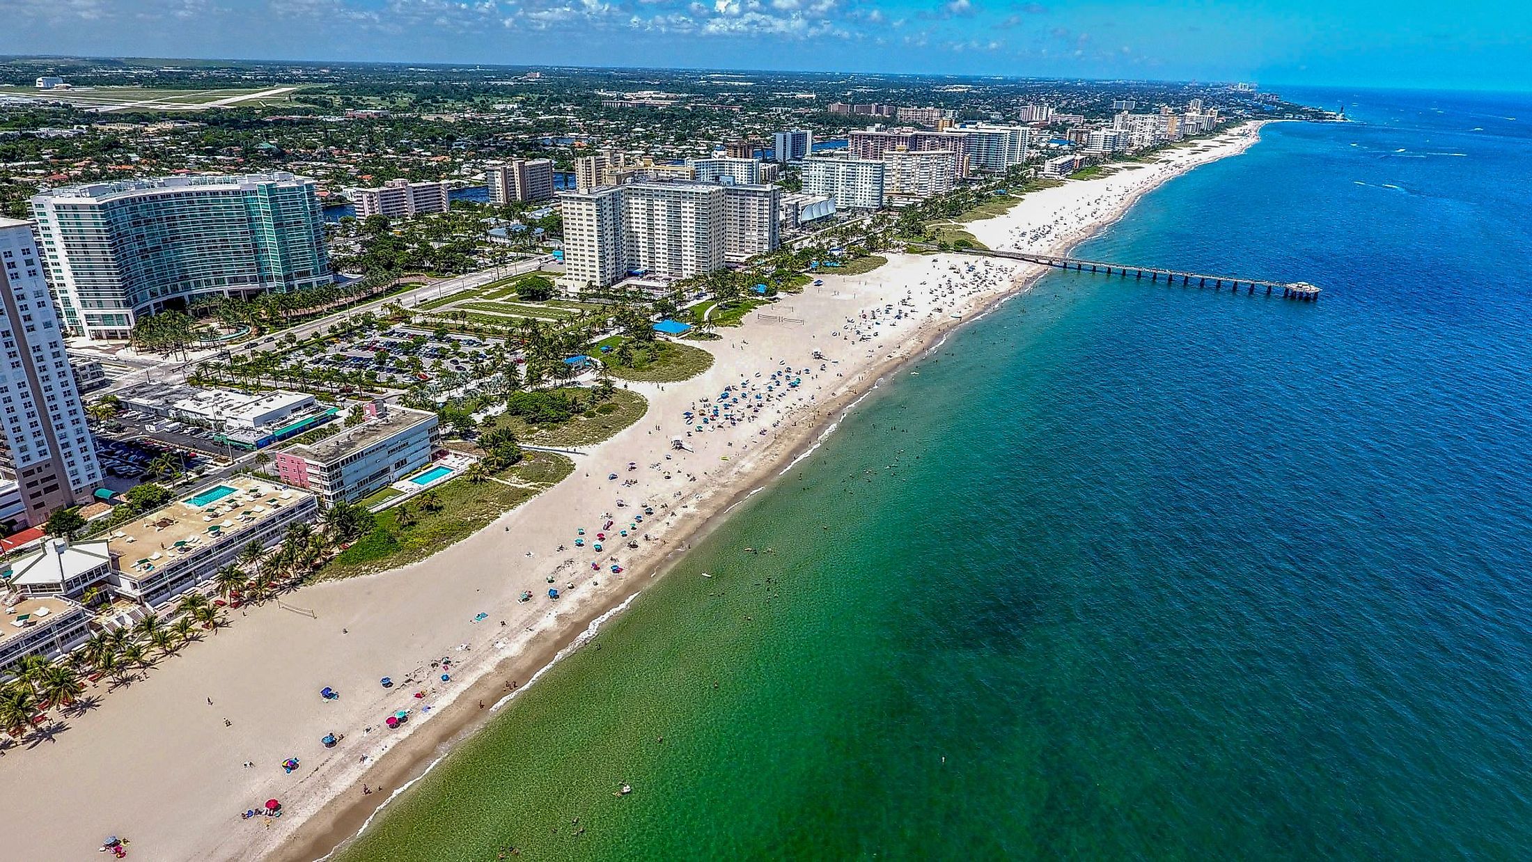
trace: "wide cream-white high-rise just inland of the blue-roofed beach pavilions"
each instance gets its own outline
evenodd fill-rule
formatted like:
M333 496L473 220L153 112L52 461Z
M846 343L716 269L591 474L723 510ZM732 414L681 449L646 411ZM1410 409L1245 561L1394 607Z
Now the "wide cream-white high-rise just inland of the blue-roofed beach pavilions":
M559 194L559 285L605 288L630 273L689 279L777 248L781 199L771 185L628 182Z

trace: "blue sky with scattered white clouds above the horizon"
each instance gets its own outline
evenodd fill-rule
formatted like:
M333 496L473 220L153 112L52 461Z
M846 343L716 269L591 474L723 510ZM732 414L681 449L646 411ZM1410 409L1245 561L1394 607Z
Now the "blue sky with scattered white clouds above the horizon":
M0 54L1532 89L1526 0L0 0Z

